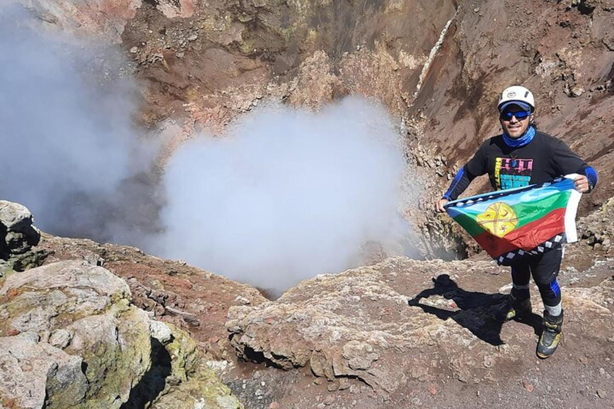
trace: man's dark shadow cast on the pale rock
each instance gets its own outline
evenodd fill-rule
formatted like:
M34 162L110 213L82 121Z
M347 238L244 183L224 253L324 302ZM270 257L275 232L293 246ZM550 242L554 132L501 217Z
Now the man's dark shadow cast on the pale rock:
M442 296L453 300L458 308L445 310L420 304L420 300L430 296ZM473 335L491 345L502 345L500 333L503 325L507 296L505 294L486 294L477 291L465 291L460 288L448 274L433 278L433 288L421 291L416 297L408 300L408 304L420 307L424 312L433 314L440 319L452 318L461 326L467 328ZM515 321L533 327L535 334L541 335L542 318L532 313L524 319Z

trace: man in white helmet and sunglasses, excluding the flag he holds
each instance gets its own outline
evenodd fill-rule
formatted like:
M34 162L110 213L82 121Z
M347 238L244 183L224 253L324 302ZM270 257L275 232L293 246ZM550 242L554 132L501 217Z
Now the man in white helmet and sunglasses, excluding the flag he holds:
M456 200L473 180L487 174L494 189L510 189L548 182L567 174L578 174L573 182L582 193L597 183L597 172L573 153L567 145L537 131L533 123L535 99L524 86L510 86L499 97L499 120L503 133L486 140L472 159L456 174L448 191L435 202L435 210L445 212L448 201ZM556 277L561 267L562 248L528 256L511 266L512 289L503 319L530 315L529 279L539 288L545 307L544 331L537 344L537 356L550 357L561 339L563 310L561 289Z

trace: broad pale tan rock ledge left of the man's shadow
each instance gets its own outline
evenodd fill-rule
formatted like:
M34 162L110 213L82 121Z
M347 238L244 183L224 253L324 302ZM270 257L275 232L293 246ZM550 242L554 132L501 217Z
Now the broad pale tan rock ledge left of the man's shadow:
M386 324L388 319L411 322L411 315L406 315L411 312L406 297L388 286L382 286L383 281L379 276L380 269L398 272L402 268L400 265L413 269L412 262L405 259L388 259L375 267L363 267L336 276L321 275L303 281L275 302L264 304L262 310L257 307L232 307L227 323L233 333L231 342L241 356L243 348L249 346L255 351L263 351L266 357L284 368L309 365L317 376L329 379L357 377L375 388L392 391L405 381L403 375L398 376L399 373L403 374L413 367L428 367L414 359L400 360L400 352L392 353L392 350L398 348L399 351L405 351L402 354L414 357L414 353L410 353L411 348L426 346L430 338L426 333L441 327L437 318L434 321L422 321L419 325L421 329L417 332L409 330L397 333L395 327ZM415 268L424 273L422 277L427 282L431 282L430 267L437 269L437 265L416 264ZM313 292L316 288L318 294ZM338 305L338 300L351 296L350 288L362 288L363 298L375 297L375 301L359 302L352 304L348 310L338 310L334 306ZM367 319L387 308L401 316L380 319L378 322L381 322L381 327ZM282 321L279 319L282 316L301 318L300 321ZM279 323L274 326L276 329L271 333L274 335L270 341L266 335L269 327L267 321ZM289 326L288 322L292 324ZM328 325L319 324L322 322ZM429 327L430 324L433 327ZM297 333L298 327L304 329ZM412 324L406 328L410 327L413 327ZM444 324L444 328L448 326ZM279 334L283 335L280 337ZM330 340L330 343L324 340ZM452 336L451 341L456 344L456 337Z

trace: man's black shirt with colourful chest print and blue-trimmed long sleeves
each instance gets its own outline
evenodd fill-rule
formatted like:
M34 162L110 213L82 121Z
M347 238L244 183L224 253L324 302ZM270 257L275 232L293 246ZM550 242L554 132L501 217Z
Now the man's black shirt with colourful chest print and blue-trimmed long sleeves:
M484 141L456 174L443 197L456 200L475 177L487 173L492 188L497 190L548 182L572 173L586 175L589 189L597 183L595 170L565 142L538 131L529 143L517 148L508 146L501 135Z

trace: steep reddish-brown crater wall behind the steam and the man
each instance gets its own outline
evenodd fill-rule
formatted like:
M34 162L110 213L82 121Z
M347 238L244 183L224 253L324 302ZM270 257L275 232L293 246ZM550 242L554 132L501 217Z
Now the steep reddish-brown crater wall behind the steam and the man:
M411 177L424 187L404 216L421 230L428 257L474 250L429 210L481 141L499 132L497 94L513 83L534 92L540 129L602 175L581 214L614 193L609 0L24 4L47 29L120 45L144 85L139 119L164 129L166 155L200 129L223 133L266 101L317 109L359 93L383 102L403 120ZM468 194L487 184L475 182Z

